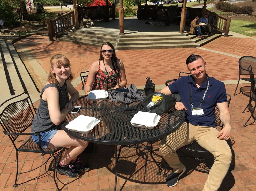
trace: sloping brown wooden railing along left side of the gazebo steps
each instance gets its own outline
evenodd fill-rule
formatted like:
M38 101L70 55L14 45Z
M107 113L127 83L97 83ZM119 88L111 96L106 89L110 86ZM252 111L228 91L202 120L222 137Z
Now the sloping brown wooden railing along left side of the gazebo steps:
M71 29L75 25L75 14L74 11L70 11L61 15L53 20L46 18L47 30L49 40L52 41L53 37Z

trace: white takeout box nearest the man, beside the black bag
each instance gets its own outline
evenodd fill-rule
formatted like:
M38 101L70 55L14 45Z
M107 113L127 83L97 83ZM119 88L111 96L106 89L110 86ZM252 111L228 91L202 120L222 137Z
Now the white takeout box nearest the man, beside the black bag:
M160 120L160 115L157 115L156 113L148 113L148 112L142 112L139 111L136 113L132 120L131 124L134 127L142 127L147 129L153 129L157 123Z

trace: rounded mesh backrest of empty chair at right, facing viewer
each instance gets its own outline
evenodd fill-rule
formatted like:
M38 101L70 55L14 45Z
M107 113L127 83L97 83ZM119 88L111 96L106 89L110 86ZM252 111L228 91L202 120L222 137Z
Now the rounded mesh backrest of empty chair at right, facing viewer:
M248 67L251 65L252 71L256 72L256 58L253 56L243 56L238 61L239 75L249 75Z

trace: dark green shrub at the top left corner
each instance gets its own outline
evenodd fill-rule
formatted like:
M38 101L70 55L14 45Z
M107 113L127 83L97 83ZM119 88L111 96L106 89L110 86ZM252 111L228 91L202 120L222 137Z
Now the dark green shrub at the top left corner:
M4 26L19 25L19 15L13 10L13 7L6 4L0 4L0 18L4 22Z

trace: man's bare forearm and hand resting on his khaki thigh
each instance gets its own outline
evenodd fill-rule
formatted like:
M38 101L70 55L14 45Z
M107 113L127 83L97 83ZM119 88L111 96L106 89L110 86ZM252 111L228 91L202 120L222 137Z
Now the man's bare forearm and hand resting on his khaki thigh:
M222 130L217 134L218 139L228 140L231 135L231 115L228 110L227 102L217 103L220 110L221 122L224 124Z

